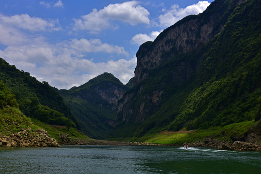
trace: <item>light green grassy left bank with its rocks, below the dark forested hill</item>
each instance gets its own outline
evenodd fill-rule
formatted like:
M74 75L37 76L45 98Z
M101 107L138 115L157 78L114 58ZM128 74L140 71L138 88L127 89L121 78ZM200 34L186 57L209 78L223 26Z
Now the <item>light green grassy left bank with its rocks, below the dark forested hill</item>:
M27 117L19 110L15 95L0 81L0 146L60 146L59 135L64 134L86 138L76 128L50 126Z

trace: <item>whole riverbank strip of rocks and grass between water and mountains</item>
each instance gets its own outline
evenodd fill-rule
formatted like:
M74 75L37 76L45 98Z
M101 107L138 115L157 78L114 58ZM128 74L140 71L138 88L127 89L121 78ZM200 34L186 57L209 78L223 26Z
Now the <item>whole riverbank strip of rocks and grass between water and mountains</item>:
M41 125L43 126L43 125ZM47 130L46 130L47 129ZM8 127L6 127L8 130ZM33 131L34 130L34 131ZM60 145L172 145L191 147L215 147L224 150L261 151L261 122L247 121L208 130L163 131L121 140L95 140L79 136L78 132L64 128L45 127L20 129L16 133L0 133L0 146L59 147ZM51 132L50 136L47 133ZM64 133L64 132L68 133ZM9 132L9 133L8 133ZM77 134L78 136L73 136ZM55 135L55 136L54 136ZM54 138L51 138L54 137Z

